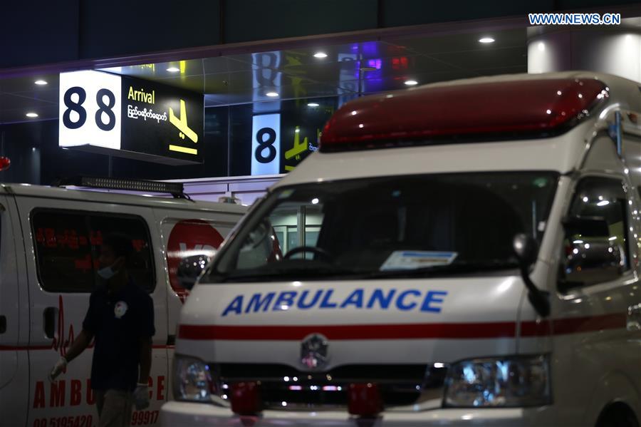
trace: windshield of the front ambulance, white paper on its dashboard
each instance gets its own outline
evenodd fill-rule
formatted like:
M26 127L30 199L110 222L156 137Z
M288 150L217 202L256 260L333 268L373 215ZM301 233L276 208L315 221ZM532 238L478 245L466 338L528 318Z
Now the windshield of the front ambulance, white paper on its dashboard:
M457 173L278 188L202 282L515 268L514 235L541 241L557 179L550 172Z

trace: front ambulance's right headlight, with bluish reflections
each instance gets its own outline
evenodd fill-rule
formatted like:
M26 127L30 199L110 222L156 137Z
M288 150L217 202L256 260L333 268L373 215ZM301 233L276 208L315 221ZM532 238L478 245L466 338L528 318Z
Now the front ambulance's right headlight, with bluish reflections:
M522 407L551 403L547 356L473 359L452 364L446 407Z

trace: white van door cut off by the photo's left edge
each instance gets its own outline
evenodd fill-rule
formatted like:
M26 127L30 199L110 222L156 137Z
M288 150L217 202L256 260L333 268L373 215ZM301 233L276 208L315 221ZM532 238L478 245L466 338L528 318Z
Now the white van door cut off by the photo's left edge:
M12 197L0 195L0 426L25 426L28 412L28 297L24 247ZM16 227L17 226L17 227Z

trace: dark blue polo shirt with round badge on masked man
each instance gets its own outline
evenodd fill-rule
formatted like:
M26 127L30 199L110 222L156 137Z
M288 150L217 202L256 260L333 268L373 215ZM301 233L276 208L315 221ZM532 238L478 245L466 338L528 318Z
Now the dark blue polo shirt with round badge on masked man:
M91 293L83 329L95 336L91 388L135 389L140 339L155 334L154 307L147 292L128 282L114 294L106 286Z

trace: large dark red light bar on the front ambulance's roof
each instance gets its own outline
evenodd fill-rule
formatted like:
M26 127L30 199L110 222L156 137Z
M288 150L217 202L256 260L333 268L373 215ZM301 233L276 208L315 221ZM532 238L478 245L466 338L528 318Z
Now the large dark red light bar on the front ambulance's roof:
M330 118L321 151L385 147L444 137L561 133L608 97L601 81L554 78L424 87L346 103Z

